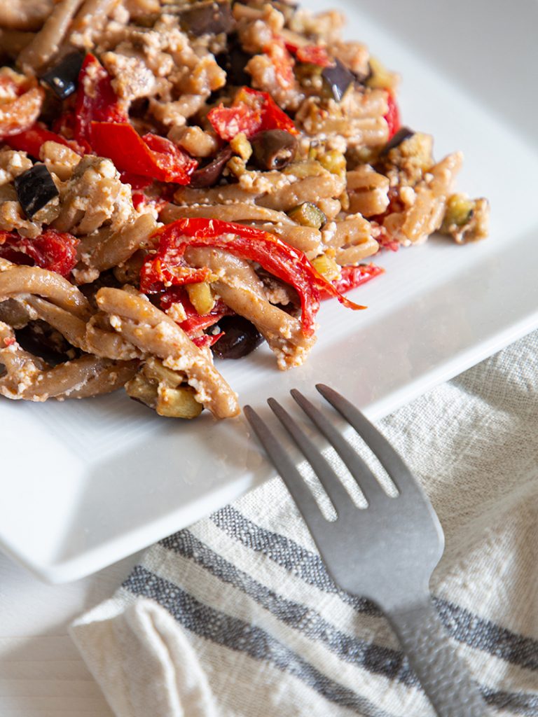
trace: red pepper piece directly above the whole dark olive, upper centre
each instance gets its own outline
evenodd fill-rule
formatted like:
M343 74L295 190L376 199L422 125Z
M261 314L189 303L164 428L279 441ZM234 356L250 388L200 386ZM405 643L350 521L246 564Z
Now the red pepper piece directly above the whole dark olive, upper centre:
M268 92L242 87L231 107L219 105L207 119L221 139L229 142L240 132L253 137L263 130L286 130L298 134L291 118L278 107Z

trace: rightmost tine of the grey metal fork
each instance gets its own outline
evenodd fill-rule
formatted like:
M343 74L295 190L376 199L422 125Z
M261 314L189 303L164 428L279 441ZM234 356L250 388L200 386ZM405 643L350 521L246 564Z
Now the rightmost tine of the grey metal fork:
M316 384L316 389L354 427L362 440L377 456L384 470L394 481L398 491L403 493L404 491L413 490L415 493L422 495L422 489L413 478L409 468L384 435L353 404L344 399L338 391L325 384Z

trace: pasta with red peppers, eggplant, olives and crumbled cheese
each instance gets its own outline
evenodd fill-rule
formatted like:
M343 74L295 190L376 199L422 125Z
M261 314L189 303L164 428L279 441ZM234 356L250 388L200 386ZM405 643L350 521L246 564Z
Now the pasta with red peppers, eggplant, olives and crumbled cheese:
M377 252L486 237L461 153L400 124L343 27L291 0L1 4L3 397L232 417L220 361L299 366Z

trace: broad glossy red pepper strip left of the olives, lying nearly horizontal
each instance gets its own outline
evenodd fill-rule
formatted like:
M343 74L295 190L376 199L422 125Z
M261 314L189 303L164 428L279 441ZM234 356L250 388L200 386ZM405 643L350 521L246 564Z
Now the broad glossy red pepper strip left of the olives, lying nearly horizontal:
M111 159L121 172L189 184L198 166L170 140L153 134L141 137L128 123L92 122L91 134L93 151Z

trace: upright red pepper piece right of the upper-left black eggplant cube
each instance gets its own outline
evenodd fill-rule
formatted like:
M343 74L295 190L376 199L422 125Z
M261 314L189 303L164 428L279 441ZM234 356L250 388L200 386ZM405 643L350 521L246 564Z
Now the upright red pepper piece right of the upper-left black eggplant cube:
M75 98L75 139L89 151L93 148L93 122L127 122L112 87L110 75L95 55L88 53L82 62Z

